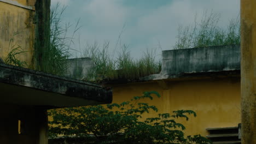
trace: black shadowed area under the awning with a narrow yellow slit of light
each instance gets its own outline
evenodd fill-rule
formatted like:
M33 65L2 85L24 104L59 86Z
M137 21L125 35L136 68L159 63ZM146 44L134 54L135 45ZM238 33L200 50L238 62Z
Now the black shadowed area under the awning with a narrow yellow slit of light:
M0 104L0 109L0 143L36 143L39 132L33 106Z

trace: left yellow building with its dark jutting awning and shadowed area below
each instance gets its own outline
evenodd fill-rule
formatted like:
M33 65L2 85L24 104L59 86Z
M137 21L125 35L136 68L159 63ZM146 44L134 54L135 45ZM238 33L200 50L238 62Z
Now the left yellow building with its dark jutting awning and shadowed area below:
M32 57L38 23L35 10L49 10L50 1L0 1L0 57L5 59L19 44L25 53L20 57L33 68ZM34 4L38 8L35 9ZM46 4L47 5L47 4ZM43 16L44 17L44 16ZM43 19L40 17L40 19ZM44 19L43 19L44 20ZM44 26L40 23L41 26ZM37 28L36 28L37 27ZM41 29L42 30L42 29ZM15 37L15 38L13 38ZM43 43L43 40L40 41ZM15 49L16 47L14 47ZM112 91L101 86L41 71L4 64L0 61L0 143L48 143L48 109L108 104Z

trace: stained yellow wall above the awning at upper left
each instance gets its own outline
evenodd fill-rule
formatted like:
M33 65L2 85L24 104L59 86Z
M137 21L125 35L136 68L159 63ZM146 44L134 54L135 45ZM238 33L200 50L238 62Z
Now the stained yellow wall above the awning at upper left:
M18 3L24 6L33 5L36 0L25 1L17 0ZM32 67L32 55L34 44L34 10L18 7L13 4L0 1L0 57L4 60L10 52L9 42L14 39L13 46L18 45L25 53L19 55L21 61L26 61L28 67ZM15 33L17 33L14 35Z

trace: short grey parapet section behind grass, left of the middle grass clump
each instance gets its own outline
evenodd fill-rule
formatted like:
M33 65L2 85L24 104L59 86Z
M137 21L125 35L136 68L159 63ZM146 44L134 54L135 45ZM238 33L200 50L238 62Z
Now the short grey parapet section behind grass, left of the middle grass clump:
M67 59L65 62L67 64L67 73L65 76L79 80L84 79L95 65L91 61L91 58L72 58Z

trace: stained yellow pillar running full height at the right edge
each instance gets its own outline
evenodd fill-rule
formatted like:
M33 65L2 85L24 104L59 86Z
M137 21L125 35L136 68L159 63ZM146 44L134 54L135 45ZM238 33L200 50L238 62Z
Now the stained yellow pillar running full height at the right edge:
M241 0L241 138L256 143L256 1Z

